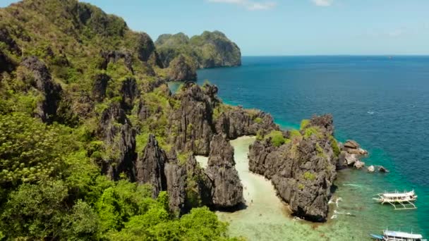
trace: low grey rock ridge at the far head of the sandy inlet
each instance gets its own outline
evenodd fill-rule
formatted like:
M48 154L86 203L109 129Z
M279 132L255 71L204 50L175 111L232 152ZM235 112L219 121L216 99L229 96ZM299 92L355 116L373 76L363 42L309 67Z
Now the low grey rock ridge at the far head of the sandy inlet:
M252 110L253 111L253 110ZM264 135L271 130L279 130L272 116L262 111L250 113L241 107L222 113L216 121L217 133L225 133L229 139L243 135Z

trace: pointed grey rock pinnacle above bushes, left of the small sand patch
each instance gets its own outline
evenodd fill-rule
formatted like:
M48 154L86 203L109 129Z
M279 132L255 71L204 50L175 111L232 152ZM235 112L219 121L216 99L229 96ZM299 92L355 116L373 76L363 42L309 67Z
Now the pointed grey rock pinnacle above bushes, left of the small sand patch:
M159 147L154 135L149 136L149 142L143 152L138 156L135 165L138 183L152 185L152 196L158 197L159 192L167 190L167 178L164 174L164 166L167 162L167 154ZM171 167L170 167L171 168ZM174 170L170 170L174 171Z

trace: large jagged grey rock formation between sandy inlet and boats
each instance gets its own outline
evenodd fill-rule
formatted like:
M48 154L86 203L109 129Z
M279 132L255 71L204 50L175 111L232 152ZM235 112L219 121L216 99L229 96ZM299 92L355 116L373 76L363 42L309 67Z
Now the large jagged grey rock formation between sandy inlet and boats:
M324 221L328 214L338 160L332 131L332 116L313 116L299 135L286 132L289 142L279 147L270 138L249 147L249 170L271 179L291 211L310 221Z

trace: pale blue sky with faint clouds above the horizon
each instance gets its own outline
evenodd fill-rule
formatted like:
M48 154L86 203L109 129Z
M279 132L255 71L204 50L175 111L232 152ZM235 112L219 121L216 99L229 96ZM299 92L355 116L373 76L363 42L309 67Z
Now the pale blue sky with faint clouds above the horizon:
M154 41L222 31L243 56L429 54L429 0L85 1Z

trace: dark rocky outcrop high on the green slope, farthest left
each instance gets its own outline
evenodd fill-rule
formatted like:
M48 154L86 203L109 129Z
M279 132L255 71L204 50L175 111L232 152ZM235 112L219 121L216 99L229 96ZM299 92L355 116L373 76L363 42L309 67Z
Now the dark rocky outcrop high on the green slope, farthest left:
M61 100L61 85L52 81L49 70L37 57L25 58L21 66L27 68L32 73L32 79L28 80L32 87L35 87L43 95L44 99L37 103L35 115L43 122L52 123L56 116L59 101Z

